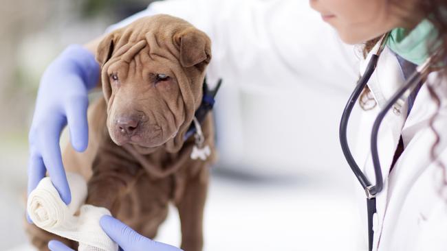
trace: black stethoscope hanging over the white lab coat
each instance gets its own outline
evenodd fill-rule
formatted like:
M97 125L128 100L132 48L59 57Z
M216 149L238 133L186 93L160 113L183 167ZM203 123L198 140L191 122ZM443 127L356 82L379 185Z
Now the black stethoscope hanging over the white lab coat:
M347 104L345 106L345 110L343 110L342 118L340 121L340 145L342 147L343 154L345 154L345 158L351 167L351 170L356 175L358 181L362 185L366 195L367 195L367 211L368 211L368 241L369 241L369 250L373 250L373 215L377 212L375 207L375 196L382 191L383 187L383 179L382 179L382 169L380 167L379 153L378 153L378 131L380 128L380 124L382 123L385 115L391 108L393 108L393 112L397 115L400 115L400 111L405 104L408 96L411 95L417 84L421 82L421 80L426 77L428 74L428 68L430 66L430 62L432 62L432 58L435 55L430 56L423 64L419 65L415 72L411 74L410 77L406 80L404 85L388 100L386 104L380 110L378 116L376 117L373 123L373 129L371 130L371 157L373 160L374 166L374 174L375 174L375 185L372 184L367 176L364 175L360 167L358 167L356 160L354 160L351 150L349 150L349 145L347 141L347 125L349 121L349 116L351 115L351 111L356 104L357 99L362 94L364 87L367 85L369 78L375 71L375 67L377 66L377 62L382 53L385 45L388 34L382 36L378 43L380 46L375 49L374 53L371 55L371 59L367 64L367 68L364 71L360 80L358 80L356 84L356 88L354 88L353 93L349 97Z

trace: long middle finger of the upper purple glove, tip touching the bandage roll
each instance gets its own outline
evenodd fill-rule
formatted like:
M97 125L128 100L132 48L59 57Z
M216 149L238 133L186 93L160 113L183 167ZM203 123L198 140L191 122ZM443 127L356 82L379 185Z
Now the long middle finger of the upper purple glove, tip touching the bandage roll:
M72 194L68 186L67 176L62 163L61 147L59 145L59 137L65 121L60 123L50 123L48 130L43 132L39 139L41 140L41 150L43 163L50 174L51 181L58 191L61 199L65 204L72 201Z

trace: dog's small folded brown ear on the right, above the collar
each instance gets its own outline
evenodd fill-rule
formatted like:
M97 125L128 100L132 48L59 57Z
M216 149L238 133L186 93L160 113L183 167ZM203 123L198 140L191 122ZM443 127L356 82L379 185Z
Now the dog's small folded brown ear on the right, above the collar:
M183 67L204 68L211 60L211 40L204 32L189 28L179 32L175 41L180 49L180 64Z

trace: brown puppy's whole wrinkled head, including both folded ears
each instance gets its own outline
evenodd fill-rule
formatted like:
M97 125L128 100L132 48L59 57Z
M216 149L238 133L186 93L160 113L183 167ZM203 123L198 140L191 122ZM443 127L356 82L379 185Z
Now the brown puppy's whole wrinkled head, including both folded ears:
M182 19L152 16L109 34L97 59L113 142L179 150L201 100L208 36Z

